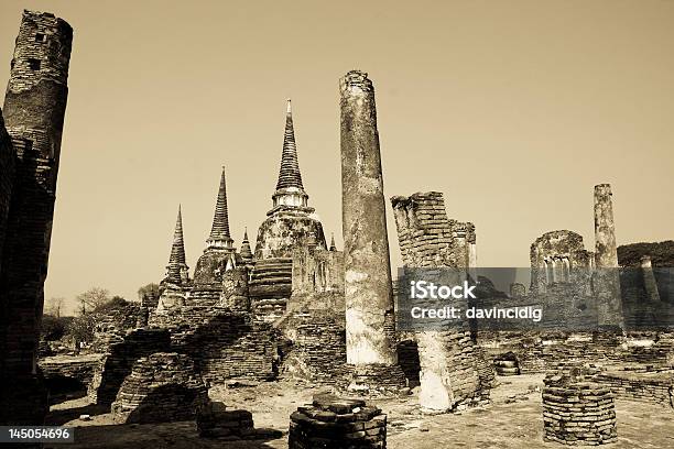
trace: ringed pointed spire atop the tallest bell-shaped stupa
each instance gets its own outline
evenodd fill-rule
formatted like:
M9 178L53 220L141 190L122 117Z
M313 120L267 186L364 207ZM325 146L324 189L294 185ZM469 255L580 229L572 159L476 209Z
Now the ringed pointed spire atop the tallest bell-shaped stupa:
M297 146L295 144L295 130L293 127L293 111L291 100L287 99L285 112L285 132L283 134L283 152L281 154L281 168L276 191L272 196L273 205L306 207L308 195L302 185L302 174L297 162Z

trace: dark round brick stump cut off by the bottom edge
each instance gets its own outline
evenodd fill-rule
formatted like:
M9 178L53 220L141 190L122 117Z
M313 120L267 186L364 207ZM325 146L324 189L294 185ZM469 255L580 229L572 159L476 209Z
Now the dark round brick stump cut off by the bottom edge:
M289 449L384 449L387 415L363 401L318 396L291 415Z

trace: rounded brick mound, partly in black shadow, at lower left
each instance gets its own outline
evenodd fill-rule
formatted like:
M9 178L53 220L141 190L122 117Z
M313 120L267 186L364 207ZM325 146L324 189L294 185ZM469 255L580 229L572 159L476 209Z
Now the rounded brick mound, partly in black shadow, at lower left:
M194 419L208 403L208 390L185 354L156 352L140 358L112 403L115 423Z

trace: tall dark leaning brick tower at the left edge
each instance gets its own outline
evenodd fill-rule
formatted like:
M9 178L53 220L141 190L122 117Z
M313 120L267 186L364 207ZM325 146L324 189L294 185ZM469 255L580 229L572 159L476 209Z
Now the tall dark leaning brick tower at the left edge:
M56 175L73 29L51 13L24 11L4 97L15 155L2 249L0 421L39 424L46 407L36 375ZM2 173L2 185L9 173ZM7 405L11 404L11 406Z

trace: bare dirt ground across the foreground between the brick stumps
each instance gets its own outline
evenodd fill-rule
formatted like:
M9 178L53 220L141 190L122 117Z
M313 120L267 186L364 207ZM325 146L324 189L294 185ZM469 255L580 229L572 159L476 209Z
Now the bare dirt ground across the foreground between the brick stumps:
M543 441L542 375L499 377L492 404L460 414L423 415L413 394L405 398L371 401L389 416L388 448L562 448ZM540 388L539 388L540 390ZM325 390L278 382L236 388L211 388L210 397L253 414L257 428L283 432L256 441L205 440L194 423L113 425L110 414L87 404L86 397L52 406L48 421L76 427L75 443L47 447L70 449L197 449L287 448L289 416ZM619 441L609 448L674 448L674 410L655 404L617 402ZM91 420L80 420L89 414Z

